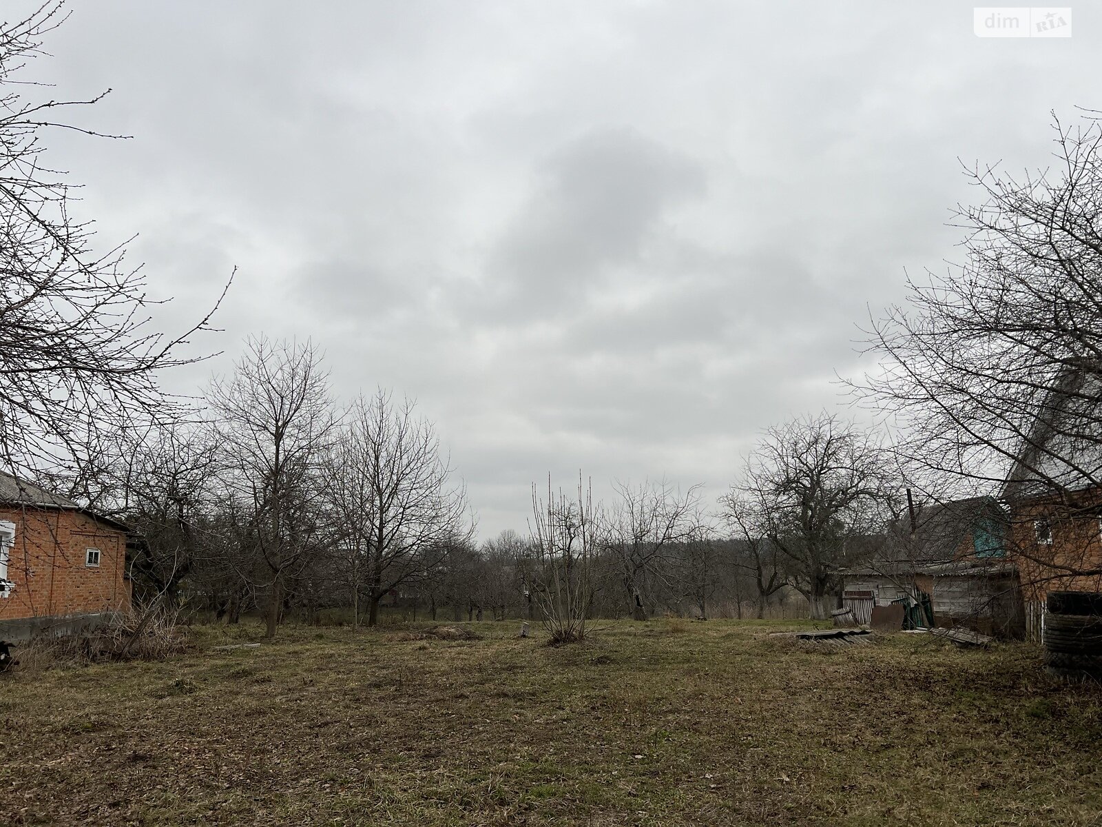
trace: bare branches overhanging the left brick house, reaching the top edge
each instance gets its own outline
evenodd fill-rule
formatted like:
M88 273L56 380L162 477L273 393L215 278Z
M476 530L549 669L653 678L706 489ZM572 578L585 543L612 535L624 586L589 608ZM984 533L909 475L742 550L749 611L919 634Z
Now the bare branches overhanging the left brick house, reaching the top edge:
M140 268L123 262L125 245L94 249L90 223L72 217L65 174L44 161L46 130L98 135L65 117L102 95L35 101L39 85L21 79L64 19L61 2L46 2L0 23L0 462L30 475L78 475L105 437L177 414L182 400L158 376L194 361L181 345L210 319L181 335L151 330L158 302Z

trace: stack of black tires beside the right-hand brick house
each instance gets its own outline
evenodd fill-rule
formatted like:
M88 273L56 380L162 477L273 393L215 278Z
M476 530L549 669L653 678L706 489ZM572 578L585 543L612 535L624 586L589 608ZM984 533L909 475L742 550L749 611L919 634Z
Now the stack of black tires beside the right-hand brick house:
M1048 593L1045 627L1045 667L1069 680L1102 681L1102 593Z

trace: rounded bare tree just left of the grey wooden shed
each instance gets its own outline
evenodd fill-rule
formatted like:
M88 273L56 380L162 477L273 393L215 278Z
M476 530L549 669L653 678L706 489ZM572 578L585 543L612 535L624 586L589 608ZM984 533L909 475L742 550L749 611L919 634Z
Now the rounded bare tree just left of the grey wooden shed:
M890 501L884 451L852 423L822 414L770 428L732 495L756 503L764 538L787 558L789 582L828 615L841 570L869 552ZM728 495L728 502L731 496Z

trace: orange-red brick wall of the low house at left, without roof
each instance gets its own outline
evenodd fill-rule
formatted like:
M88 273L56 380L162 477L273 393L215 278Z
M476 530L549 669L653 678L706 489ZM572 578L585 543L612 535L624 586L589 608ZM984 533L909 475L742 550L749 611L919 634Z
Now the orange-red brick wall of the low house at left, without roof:
M57 509L0 508L15 524L8 550L8 580L0 620L41 617L130 608L126 534L86 514ZM99 549L99 566L85 565L86 549Z

